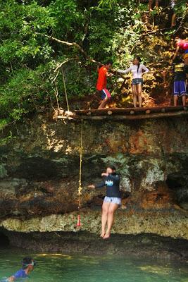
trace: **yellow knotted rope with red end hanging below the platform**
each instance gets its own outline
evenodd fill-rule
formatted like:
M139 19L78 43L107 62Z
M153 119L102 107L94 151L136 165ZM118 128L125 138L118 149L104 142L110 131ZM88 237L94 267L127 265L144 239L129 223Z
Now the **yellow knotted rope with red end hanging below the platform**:
M80 172L79 172L79 187L77 191L79 214L77 215L77 227L81 226L80 207L81 207L81 196L82 196L82 151L83 151L82 141L83 141L83 119L81 121L81 133L80 133Z

